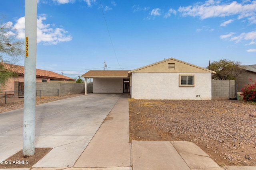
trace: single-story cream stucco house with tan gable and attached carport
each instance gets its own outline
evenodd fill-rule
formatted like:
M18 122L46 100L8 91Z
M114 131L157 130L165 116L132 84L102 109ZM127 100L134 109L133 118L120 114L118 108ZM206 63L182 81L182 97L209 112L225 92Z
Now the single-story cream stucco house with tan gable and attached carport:
M130 92L136 99L211 100L212 73L216 72L170 58L130 71L90 70L82 77L93 78L94 93Z

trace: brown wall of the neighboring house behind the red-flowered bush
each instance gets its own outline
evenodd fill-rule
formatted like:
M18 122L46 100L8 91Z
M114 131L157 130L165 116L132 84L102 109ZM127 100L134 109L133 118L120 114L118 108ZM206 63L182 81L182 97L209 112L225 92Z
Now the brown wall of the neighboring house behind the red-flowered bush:
M242 92L242 88L246 84L252 84L252 82L249 80L251 78L252 80L256 79L256 73L254 72L243 72L239 76L236 77L236 83L238 85L238 92Z

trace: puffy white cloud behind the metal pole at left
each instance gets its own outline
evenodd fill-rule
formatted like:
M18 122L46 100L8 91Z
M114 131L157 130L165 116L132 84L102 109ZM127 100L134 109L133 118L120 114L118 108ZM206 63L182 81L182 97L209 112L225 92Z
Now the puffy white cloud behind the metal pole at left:
M44 43L48 45L58 44L63 41L71 41L72 37L67 35L67 31L63 28L52 27L50 24L45 24L46 16L41 15L37 19L37 43ZM25 38L25 17L21 17L17 20L13 26L17 31L17 38Z

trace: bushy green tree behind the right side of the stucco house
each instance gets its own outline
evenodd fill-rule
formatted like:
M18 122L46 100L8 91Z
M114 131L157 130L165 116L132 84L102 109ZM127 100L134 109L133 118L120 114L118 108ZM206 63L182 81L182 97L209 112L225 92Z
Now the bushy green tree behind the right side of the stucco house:
M245 72L244 66L241 66L240 61L228 59L214 61L207 66L207 69L216 72L216 74L212 74L212 78L215 80L235 80L239 74Z

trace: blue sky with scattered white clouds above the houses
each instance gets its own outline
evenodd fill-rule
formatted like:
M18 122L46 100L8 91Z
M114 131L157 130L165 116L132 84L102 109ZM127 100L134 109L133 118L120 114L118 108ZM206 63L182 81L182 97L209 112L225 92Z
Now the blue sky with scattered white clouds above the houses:
M24 40L25 0L0 3ZM36 67L69 77L163 59L256 64L256 1L38 0ZM24 60L18 64L24 65Z

